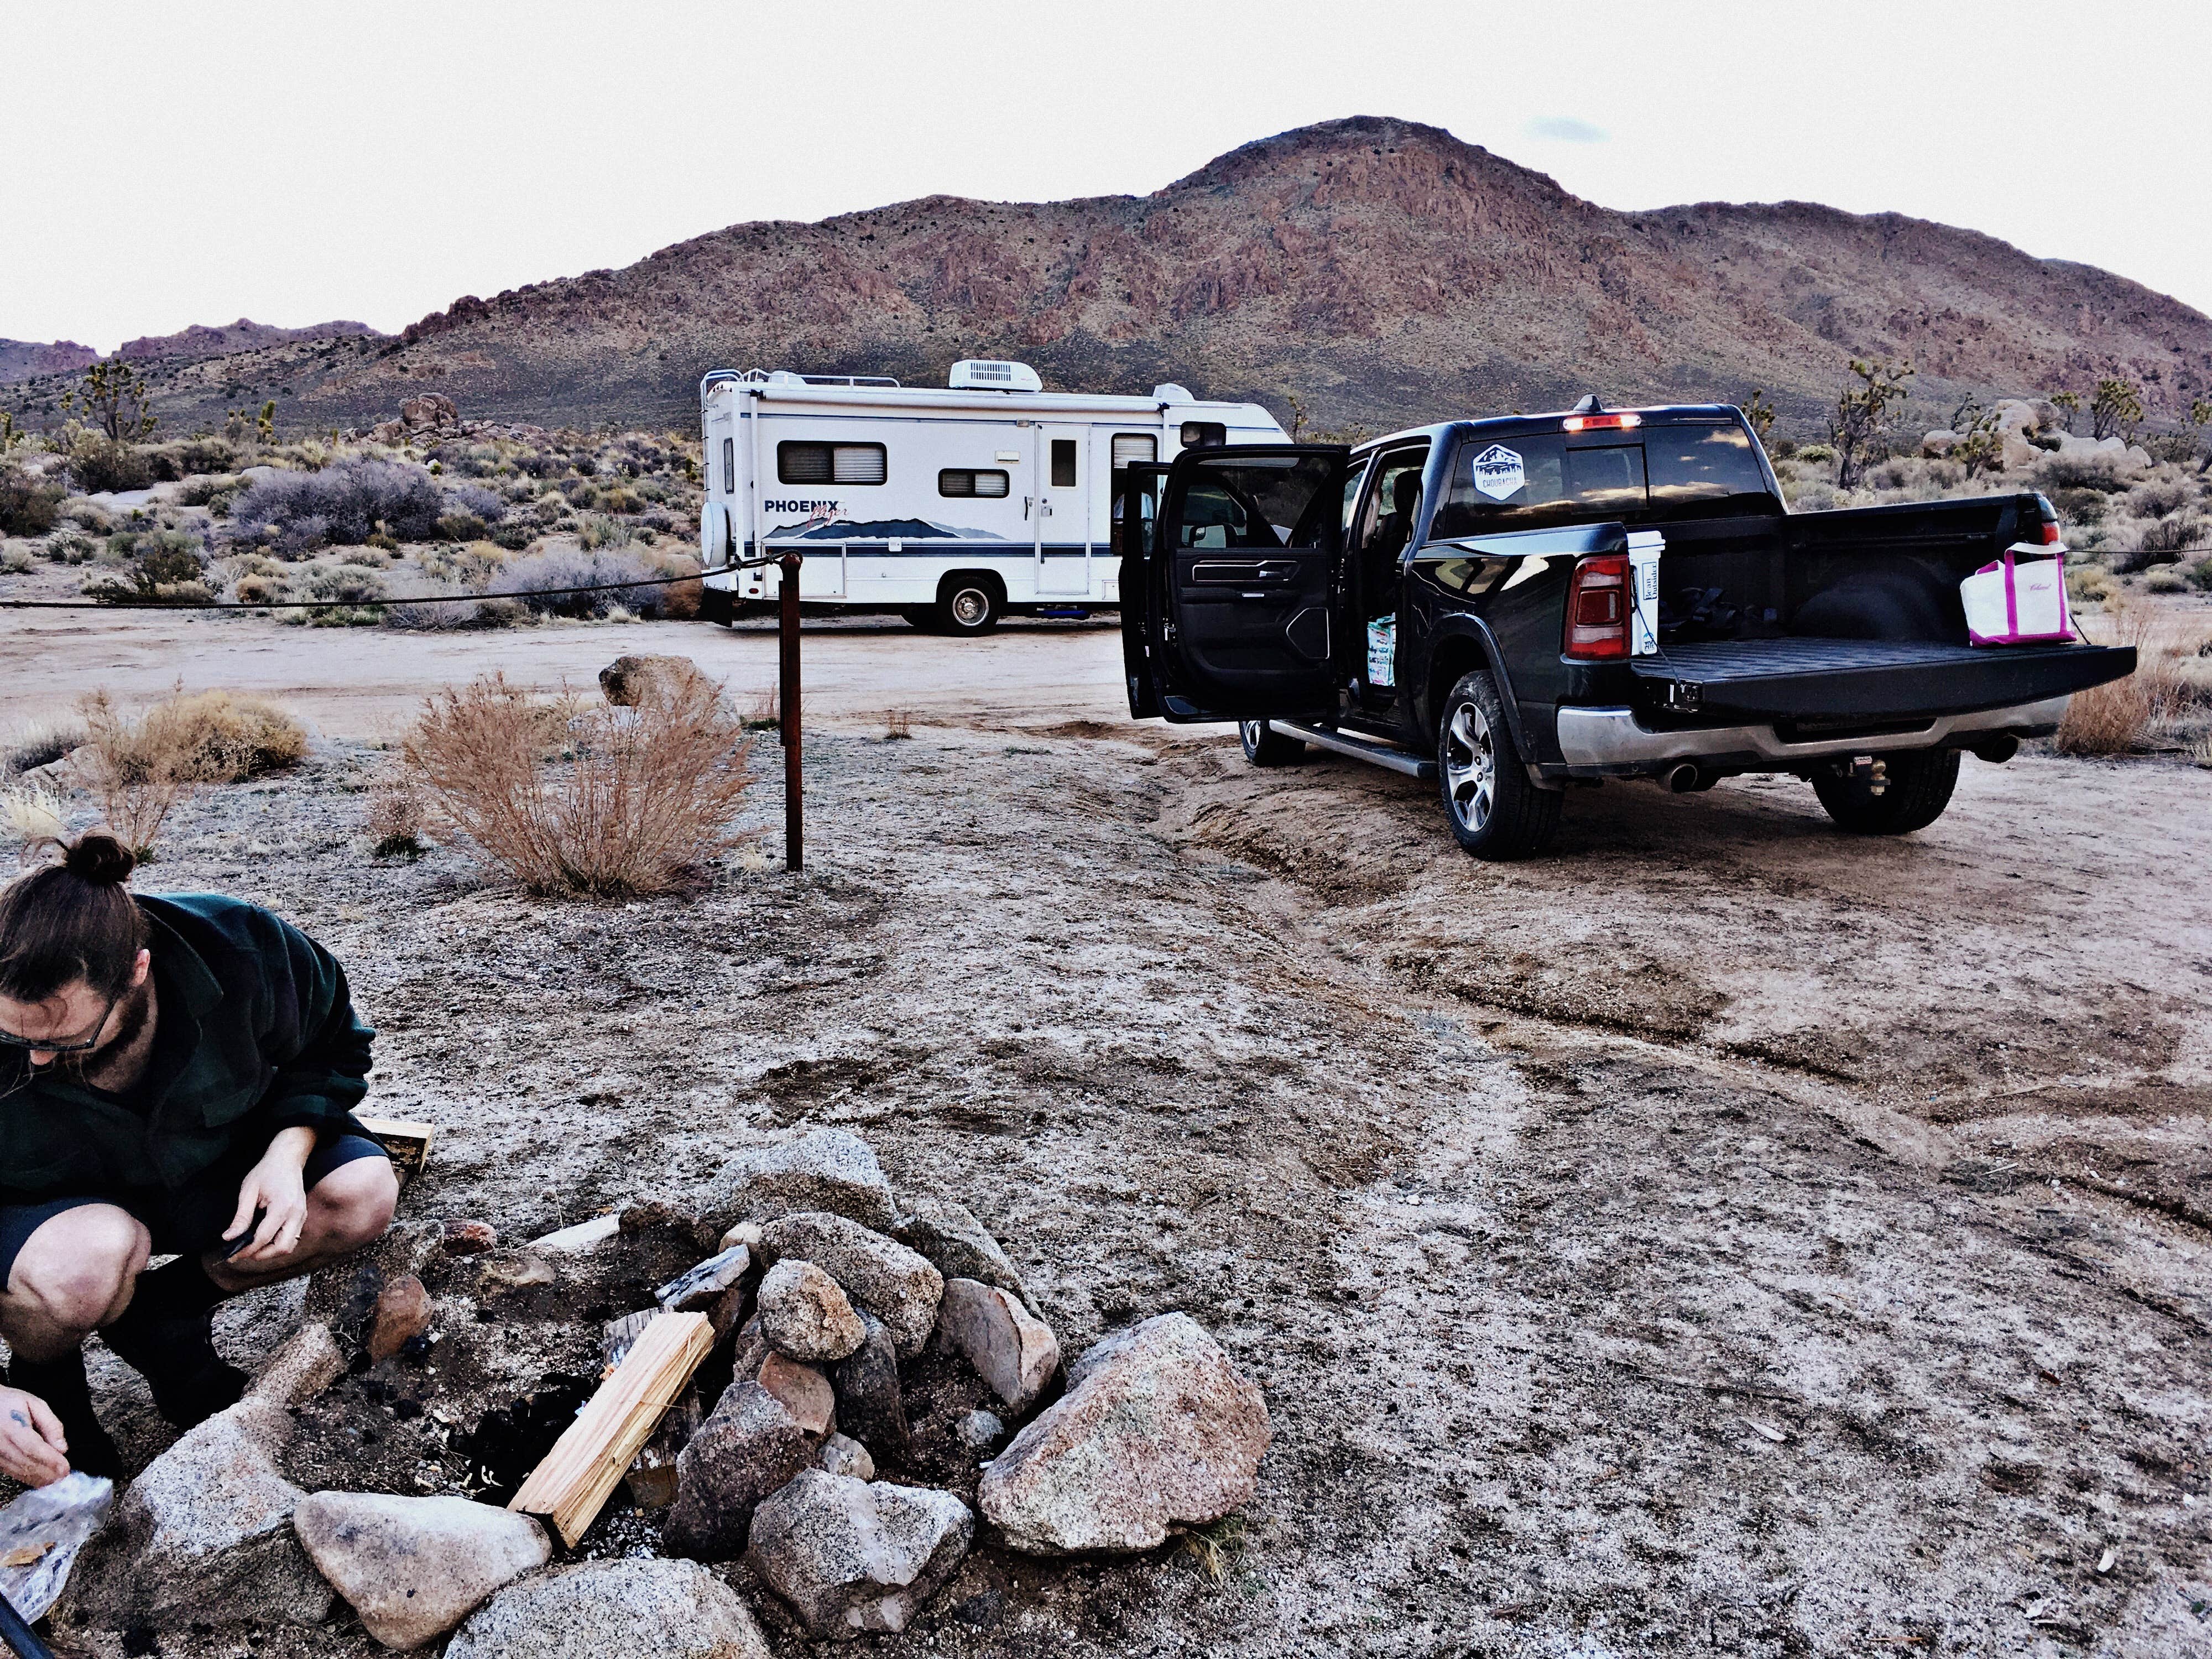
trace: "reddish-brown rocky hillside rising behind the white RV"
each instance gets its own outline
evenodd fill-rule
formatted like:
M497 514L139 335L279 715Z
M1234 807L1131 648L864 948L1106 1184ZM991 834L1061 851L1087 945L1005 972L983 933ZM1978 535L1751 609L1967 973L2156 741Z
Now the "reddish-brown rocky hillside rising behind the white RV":
M1296 394L1321 427L1763 387L1809 429L1865 352L1920 365L1929 414L2115 369L2154 411L2212 387L2212 319L2101 270L1807 204L1613 212L1378 117L1248 144L1148 197L732 226L460 299L396 343L285 343L161 387L186 425L263 396L290 427L354 425L420 389L467 414L690 425L708 367L940 383L956 358L1018 356L1055 387L1175 378L1279 411Z

